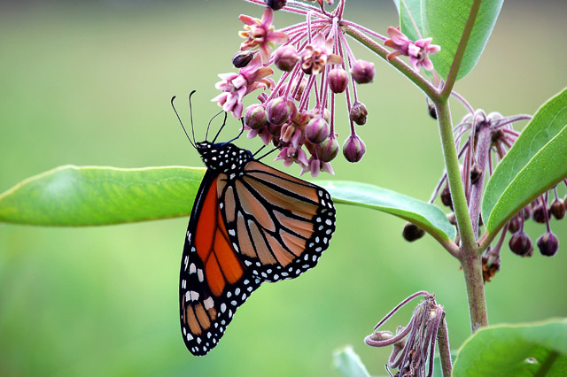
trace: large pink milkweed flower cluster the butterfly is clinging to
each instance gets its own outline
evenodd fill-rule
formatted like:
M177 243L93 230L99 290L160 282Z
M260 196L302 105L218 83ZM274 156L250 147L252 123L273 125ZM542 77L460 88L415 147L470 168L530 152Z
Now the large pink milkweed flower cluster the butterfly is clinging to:
M248 1L268 6L260 19L240 15L244 31L239 35L245 41L233 58L239 72L219 75L222 81L216 88L221 94L213 101L235 118L244 115L248 137L259 136L266 145L274 144L279 150L276 160L286 166L299 165L301 173L333 173L330 161L340 150L336 96L346 97L350 123L349 135L342 139L343 156L358 162L366 151L356 127L367 122L369 112L359 99L357 85L372 82L376 71L373 63L355 58L345 27L385 41L394 49L392 58L408 56L416 69L431 70L428 55L439 51L439 46L431 45L431 38L411 42L398 31L392 32L392 44L385 36L343 19L346 0L340 0L332 12L325 10L322 0L316 0L319 7L293 0ZM276 30L274 11L279 9L305 20ZM272 66L282 73L278 81L270 78ZM244 108L245 96L256 89L262 89L257 95L259 103Z

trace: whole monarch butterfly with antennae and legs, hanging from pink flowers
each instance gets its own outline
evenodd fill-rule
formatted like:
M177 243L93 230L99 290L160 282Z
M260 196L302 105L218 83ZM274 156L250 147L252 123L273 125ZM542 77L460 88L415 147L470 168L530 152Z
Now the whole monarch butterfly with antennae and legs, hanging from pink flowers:
M215 142L221 129L212 142L195 142L193 127L191 141L185 131L206 165L185 235L179 286L183 341L195 356L216 346L260 284L313 268L335 231L335 207L325 189L261 163L232 143L237 138Z

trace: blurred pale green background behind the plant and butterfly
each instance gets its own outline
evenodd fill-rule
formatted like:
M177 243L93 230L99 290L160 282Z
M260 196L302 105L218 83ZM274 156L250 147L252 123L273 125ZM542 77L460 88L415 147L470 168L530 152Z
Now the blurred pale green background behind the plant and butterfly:
M486 112L535 112L567 84L566 11L563 2L504 4L483 58L456 90ZM236 0L0 3L0 192L65 164L201 166L169 99L181 97L188 119L183 97L198 89L194 117L204 135L218 109L209 102L216 75L232 71L241 42L240 12L262 11ZM388 1L349 0L346 17L382 32L397 25ZM280 12L275 24L300 20ZM369 108L369 122L359 128L368 152L357 165L339 158L333 179L427 200L442 158L424 97L368 50L353 47L377 66L374 83L360 87ZM346 114L338 109L344 138ZM454 119L462 115L455 103ZM225 137L237 133L239 123L230 125ZM362 339L420 289L445 305L454 348L470 334L453 258L430 236L404 242L400 219L339 205L337 232L317 268L295 281L265 284L239 309L220 345L194 358L183 346L177 307L187 220L1 225L0 374L337 376L332 350L353 344L370 373L384 375L390 350L371 349ZM567 314L567 227L553 226L562 242L555 258L503 250L501 273L486 287L491 323ZM530 223L528 230L535 243L544 227Z

